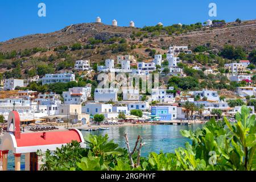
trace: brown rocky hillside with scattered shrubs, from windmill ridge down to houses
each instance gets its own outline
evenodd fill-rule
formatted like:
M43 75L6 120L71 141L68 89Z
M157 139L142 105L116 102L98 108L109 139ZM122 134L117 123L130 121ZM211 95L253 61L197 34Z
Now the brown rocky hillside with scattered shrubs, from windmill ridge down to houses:
M146 28L81 23L48 34L11 39L0 43L0 71L19 69L19 65L24 72L36 68L39 64L51 64L55 71L64 72L72 69L77 59L90 59L93 64L101 63L108 58L116 59L117 55L125 54L137 56L138 60L150 61L152 56L150 51L145 51L147 48L163 54L171 44L187 45L191 49L207 44L216 53L225 44L241 46L246 52L256 47L256 20L231 22L222 28L202 27L196 24L188 26L185 31L183 27L175 29L175 25L171 27L174 31L170 31L171 28L164 28L149 31ZM72 49L74 44L79 44L81 48ZM68 48L63 49L60 46ZM36 50L33 50L35 48ZM11 54L13 51L14 56ZM10 56L2 56L1 60L1 52L2 55L10 53Z

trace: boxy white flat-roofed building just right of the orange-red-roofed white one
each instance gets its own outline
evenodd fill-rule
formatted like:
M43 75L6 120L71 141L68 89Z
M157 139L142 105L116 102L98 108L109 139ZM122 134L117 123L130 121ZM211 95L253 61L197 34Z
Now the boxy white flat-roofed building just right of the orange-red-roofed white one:
M118 89L115 88L96 88L94 90L94 101L117 101Z

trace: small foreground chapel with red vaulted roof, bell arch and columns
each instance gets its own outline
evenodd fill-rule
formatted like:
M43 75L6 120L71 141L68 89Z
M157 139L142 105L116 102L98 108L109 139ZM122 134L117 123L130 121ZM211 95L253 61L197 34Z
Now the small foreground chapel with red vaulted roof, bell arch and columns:
M25 155L25 170L40 170L38 150L54 151L62 145L73 140L85 147L84 138L79 130L50 130L35 133L22 133L20 131L20 118L17 111L11 111L7 122L7 133L2 137L0 144L0 169L7 171L7 154L13 151L15 156L15 171L20 171L20 156Z

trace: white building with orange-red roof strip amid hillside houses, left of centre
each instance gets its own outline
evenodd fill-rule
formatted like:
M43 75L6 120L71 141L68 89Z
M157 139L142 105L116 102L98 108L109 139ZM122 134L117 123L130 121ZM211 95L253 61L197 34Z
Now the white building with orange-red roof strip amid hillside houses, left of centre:
M68 92L63 92L64 104L82 104L90 97L91 90L89 86L69 88Z

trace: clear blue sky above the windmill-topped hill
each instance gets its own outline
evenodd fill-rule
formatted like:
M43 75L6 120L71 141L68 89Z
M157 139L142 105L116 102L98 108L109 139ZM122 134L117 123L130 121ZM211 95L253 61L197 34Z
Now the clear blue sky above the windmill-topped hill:
M46 4L46 17L38 16L38 4ZM217 5L217 17L209 17L208 5ZM60 30L75 23L94 22L100 16L102 23L118 26L165 26L204 22L207 19L256 19L255 0L1 0L0 42L19 36Z

